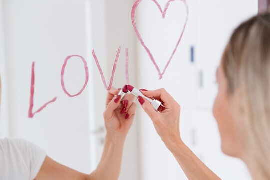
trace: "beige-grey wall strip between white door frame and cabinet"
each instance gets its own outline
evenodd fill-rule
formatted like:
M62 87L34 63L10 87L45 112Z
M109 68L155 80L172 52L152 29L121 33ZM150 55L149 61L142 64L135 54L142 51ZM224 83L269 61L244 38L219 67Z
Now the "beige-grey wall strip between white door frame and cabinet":
M136 82L135 78L135 38L130 20L133 0L106 0L107 15L107 55L108 73L111 74L113 62L119 46L122 47L121 56L115 73L114 85L122 87L126 84L125 78L125 48L129 48L129 81ZM138 146L137 146L137 118L128 133L124 146L120 180L140 179L138 173Z

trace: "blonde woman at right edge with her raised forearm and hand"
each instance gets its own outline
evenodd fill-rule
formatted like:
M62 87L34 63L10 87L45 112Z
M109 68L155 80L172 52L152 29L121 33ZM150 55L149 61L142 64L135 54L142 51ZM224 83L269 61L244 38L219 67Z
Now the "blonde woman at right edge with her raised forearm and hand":
M270 13L257 15L235 29L216 78L213 114L222 151L242 159L254 179L270 179ZM181 140L179 104L164 89L143 94L164 102L165 110L157 113L139 97L188 179L218 179Z

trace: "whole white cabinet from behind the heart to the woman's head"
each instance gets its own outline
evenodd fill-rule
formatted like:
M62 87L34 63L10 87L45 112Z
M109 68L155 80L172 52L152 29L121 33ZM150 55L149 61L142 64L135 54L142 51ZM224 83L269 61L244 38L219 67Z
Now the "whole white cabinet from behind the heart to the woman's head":
M158 2L163 7L166 0ZM233 29L257 13L257 0L187 0L187 3L190 18L186 32L163 79L157 80L157 71L138 42L138 86L146 89L164 87L172 94L182 106L180 121L183 140L221 178L248 179L249 173L242 162L222 154L211 109L217 92L215 71L223 49ZM162 69L167 60L163 53L169 53L168 49L174 44L168 41L160 42L162 38L155 39L152 36L162 34L164 38L176 39L176 28L173 25L182 23L183 19L181 17L175 22L169 15L174 15L177 19L179 13L183 16L184 8L177 6L177 3L171 3L164 19L168 18L167 23L170 26L162 25L160 30L157 29L161 22L156 20L160 17L156 6L150 1L142 1L140 5L138 29L142 31L145 44L151 47L150 50L153 55L155 53L157 64L161 64L159 67ZM178 11L175 10L177 8ZM170 27L170 33L167 26ZM194 47L193 62L190 61L191 46ZM142 111L139 112L141 179L186 178L156 134L148 116Z

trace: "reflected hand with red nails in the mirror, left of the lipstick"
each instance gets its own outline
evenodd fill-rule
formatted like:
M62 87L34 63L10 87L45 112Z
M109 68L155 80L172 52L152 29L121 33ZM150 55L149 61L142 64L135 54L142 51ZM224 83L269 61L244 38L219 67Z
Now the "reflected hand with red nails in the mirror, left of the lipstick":
M132 94L126 94L120 104L120 96L117 96L119 91L114 87L108 91L103 117L108 134L125 137L133 123L136 104L133 102L135 97Z

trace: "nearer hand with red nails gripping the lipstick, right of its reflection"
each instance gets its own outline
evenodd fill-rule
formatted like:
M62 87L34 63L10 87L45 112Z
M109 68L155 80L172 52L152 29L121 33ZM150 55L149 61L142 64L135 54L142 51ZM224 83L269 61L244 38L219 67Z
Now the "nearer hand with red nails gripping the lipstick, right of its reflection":
M165 89L153 91L141 90L147 97L153 97L164 105L164 108L156 112L151 103L141 96L138 97L144 111L151 118L156 132L161 137L163 142L168 146L176 141L181 141L179 121L180 121L180 105L172 98Z

